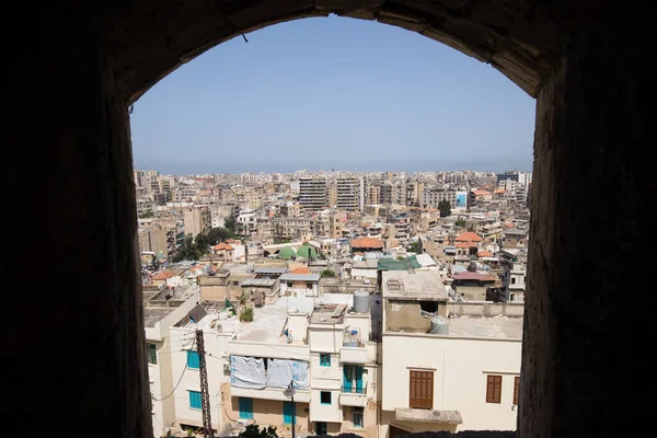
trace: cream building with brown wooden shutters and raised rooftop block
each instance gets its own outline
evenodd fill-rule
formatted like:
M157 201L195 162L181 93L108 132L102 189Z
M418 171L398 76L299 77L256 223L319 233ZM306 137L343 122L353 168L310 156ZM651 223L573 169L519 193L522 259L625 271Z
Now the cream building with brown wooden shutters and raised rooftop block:
M438 272L382 273L381 436L516 428L522 319L447 300Z

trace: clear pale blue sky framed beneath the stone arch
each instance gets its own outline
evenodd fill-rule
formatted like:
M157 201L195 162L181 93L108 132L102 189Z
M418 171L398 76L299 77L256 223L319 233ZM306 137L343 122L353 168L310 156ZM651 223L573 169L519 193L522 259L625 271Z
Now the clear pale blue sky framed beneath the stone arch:
M535 101L488 65L413 32L337 16L246 37L135 103L136 168L531 171Z

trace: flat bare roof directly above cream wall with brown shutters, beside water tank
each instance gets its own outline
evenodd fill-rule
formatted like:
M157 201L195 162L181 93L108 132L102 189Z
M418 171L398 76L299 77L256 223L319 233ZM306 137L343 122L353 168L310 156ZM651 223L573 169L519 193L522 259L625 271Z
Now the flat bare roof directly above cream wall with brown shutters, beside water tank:
M522 318L458 316L448 322L450 336L522 339Z

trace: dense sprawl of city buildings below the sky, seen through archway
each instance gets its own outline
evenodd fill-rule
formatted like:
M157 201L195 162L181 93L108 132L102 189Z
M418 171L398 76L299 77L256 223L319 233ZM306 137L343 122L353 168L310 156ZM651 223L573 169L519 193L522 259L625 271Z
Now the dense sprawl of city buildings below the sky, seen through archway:
M515 429L531 176L135 171L155 437Z

